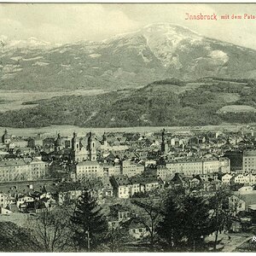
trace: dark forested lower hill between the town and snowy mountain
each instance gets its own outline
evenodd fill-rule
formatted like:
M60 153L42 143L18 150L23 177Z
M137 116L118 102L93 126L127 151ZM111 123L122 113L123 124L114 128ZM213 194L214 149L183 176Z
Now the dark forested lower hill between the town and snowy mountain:
M164 79L97 96L55 96L0 113L8 127L190 126L256 122L256 80ZM37 105L36 105L37 104Z

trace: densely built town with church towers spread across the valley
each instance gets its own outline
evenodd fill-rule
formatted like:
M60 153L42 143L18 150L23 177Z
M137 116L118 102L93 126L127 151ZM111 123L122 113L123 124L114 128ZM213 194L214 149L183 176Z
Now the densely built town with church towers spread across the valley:
M242 251L252 240L256 224L253 125L237 131L195 127L170 132L160 128L143 133L73 132L69 137L61 133L18 137L6 129L0 159L1 221L24 226L28 219L58 206L73 211L73 202L90 189L97 203L108 208L109 227L126 224L125 237L130 237L126 247L132 251L132 247L138 250L141 243L144 245L147 237L154 238L152 226L147 226L150 214L143 213L143 199L160 204L170 189L203 197L225 189L229 191L232 224L229 235L219 230L220 242L215 249ZM142 216L144 223L139 220ZM212 237L205 239L210 242ZM122 251L116 244L113 247L113 251Z

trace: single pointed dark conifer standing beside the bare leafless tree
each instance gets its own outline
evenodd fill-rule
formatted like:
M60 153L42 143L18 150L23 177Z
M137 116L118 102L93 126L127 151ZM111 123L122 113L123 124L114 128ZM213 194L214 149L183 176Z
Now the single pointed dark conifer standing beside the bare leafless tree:
M90 190L79 196L73 217L73 240L79 251L95 251L108 231L108 223Z

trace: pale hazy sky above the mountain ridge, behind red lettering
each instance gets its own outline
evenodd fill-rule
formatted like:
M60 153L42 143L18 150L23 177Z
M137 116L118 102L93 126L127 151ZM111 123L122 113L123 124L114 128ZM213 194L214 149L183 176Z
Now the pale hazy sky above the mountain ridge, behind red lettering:
M186 13L216 14L218 20L185 20ZM226 14L255 15L255 19L219 19ZM101 41L160 22L256 49L256 3L0 3L0 36L15 40Z

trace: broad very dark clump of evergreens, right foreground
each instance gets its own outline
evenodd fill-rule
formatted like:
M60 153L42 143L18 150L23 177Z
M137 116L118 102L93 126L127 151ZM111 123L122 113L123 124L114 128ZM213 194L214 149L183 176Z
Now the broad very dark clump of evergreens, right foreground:
M205 236L212 233L207 200L172 189L165 202L163 220L158 234L166 241L166 249L200 251Z

